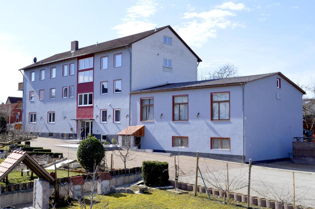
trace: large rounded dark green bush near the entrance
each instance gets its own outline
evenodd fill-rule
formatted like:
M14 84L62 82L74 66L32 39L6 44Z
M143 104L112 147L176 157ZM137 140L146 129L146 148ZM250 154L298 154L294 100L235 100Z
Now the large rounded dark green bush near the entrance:
M83 168L93 170L94 165L98 165L102 161L104 152L105 150L100 140L95 136L88 136L79 145L77 159Z

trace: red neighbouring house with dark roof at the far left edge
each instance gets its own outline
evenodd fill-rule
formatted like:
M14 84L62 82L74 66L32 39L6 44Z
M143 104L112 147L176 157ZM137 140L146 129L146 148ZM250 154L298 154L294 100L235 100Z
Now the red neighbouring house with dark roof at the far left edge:
M22 97L8 96L7 102L0 105L0 112L7 117L7 124L22 121Z

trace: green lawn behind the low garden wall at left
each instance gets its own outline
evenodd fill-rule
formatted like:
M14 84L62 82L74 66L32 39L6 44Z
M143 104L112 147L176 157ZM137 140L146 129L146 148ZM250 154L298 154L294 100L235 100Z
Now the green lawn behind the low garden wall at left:
M54 170L47 170L47 172L48 173L54 172ZM76 173L73 171L69 172L69 176L76 176L80 174L82 173ZM57 170L57 177L58 178L68 177L68 171ZM37 179L37 176L35 174L34 179ZM29 177L26 177L26 173L24 173L23 176L21 176L21 172L16 170L9 173L8 180L9 184L20 184L33 181L33 179L31 179L31 172L29 173ZM0 185L5 185L5 183L0 182Z

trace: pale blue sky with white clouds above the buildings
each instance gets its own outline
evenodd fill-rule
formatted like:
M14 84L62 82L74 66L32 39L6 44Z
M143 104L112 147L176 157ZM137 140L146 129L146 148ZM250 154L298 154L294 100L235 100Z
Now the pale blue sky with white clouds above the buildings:
M23 81L18 69L79 47L171 25L203 60L199 72L231 63L239 75L282 72L315 80L315 0L1 1L0 102ZM307 92L308 96L311 95Z

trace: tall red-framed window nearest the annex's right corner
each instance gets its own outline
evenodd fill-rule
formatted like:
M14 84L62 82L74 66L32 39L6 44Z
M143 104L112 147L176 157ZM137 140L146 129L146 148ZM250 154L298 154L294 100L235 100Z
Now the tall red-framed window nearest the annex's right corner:
M230 120L230 92L211 93L211 120Z

